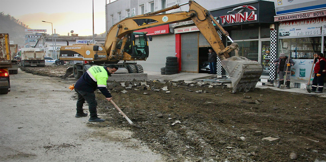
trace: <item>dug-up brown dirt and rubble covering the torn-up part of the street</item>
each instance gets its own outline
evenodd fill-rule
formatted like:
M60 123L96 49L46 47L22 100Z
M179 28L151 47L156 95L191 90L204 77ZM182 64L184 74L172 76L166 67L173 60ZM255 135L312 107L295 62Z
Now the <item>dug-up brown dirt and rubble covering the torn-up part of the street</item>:
M50 76L65 84L63 90L69 91L66 87L77 79L60 79L66 68L22 70ZM96 91L97 111L106 121L88 122L88 116L82 127L94 129L92 134L99 140L114 138L112 128L126 129L132 132L129 138L140 141L130 147L146 145L163 155L165 161L326 160L325 97L266 87L232 94L223 85L167 77L150 75L147 81L108 83L113 101L142 128L129 125L99 91ZM67 97L76 100L77 94ZM75 105L67 107L74 109ZM86 104L84 110L88 112ZM267 137L275 141L262 140Z

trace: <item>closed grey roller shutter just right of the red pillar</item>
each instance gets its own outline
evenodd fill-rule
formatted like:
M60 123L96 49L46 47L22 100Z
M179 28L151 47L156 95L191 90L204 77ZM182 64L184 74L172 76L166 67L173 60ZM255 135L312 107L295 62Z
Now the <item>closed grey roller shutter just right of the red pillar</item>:
M181 35L181 71L198 73L198 33Z

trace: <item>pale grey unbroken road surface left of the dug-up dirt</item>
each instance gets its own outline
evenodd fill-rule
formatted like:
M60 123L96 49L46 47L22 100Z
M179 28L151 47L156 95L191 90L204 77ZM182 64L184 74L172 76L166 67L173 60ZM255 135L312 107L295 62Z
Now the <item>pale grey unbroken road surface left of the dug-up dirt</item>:
M0 95L0 161L164 161L130 130L74 117L74 91L65 87L75 82L10 75L11 91Z

